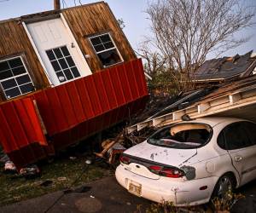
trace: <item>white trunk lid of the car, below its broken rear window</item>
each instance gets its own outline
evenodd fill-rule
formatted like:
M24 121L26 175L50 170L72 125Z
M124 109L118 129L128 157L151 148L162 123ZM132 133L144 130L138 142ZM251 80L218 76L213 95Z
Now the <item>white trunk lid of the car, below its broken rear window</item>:
M147 141L131 147L125 151L125 154L154 161L160 164L181 167L188 165L190 158L196 155L196 149L174 149L168 147L159 147L149 144Z

